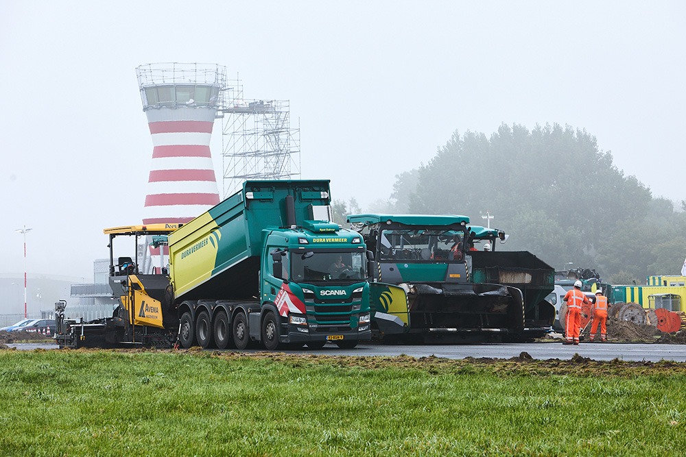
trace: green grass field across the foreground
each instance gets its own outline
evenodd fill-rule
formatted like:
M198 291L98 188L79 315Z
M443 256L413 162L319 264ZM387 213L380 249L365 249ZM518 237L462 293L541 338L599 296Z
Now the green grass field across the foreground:
M683 456L686 364L0 351L6 456Z

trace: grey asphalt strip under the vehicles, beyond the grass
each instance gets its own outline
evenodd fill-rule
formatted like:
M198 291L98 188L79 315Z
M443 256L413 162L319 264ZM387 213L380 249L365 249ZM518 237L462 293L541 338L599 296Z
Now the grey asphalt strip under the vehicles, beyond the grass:
M56 345L12 344L20 350L56 349ZM307 349L307 348L305 348ZM257 352L252 350L250 352ZM581 343L568 346L561 343L491 343L482 345L359 345L355 349L338 349L327 344L322 349L287 351L291 354L321 354L326 356L383 356L392 357L404 354L416 358L436 356L440 358L511 358L527 352L532 358L545 360L559 358L569 360L574 354L593 360L630 360L640 362L650 360L673 360L686 362L686 345L627 344L627 343Z

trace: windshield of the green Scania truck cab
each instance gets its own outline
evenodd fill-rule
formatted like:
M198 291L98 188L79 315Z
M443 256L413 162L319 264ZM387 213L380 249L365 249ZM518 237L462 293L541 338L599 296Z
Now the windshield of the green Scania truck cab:
M296 282L342 282L367 277L364 252L291 252L291 277Z

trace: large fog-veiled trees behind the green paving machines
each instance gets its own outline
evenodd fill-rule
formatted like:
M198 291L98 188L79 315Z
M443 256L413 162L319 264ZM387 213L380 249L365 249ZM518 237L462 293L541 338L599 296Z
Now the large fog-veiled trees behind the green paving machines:
M464 214L477 224L488 211L491 226L510 234L499 249L531 251L556 269L595 269L614 284L678 275L686 256L686 212L625 176L594 136L558 124L455 132L370 211Z

